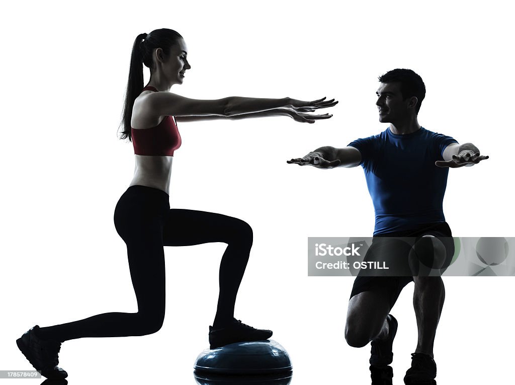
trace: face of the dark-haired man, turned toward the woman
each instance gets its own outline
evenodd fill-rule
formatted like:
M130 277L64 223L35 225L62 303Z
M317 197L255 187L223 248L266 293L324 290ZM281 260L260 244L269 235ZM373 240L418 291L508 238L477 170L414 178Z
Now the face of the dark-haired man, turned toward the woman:
M401 83L381 83L377 91L377 102L379 109L379 121L381 123L395 124L399 120L405 120L410 114L410 103L413 104L413 98L407 98L403 101L401 93Z

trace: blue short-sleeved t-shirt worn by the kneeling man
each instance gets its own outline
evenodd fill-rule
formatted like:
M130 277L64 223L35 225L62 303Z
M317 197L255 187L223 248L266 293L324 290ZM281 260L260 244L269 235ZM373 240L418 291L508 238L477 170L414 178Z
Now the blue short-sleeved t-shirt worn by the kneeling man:
M443 160L451 143L458 142L423 127L407 135L395 135L388 127L349 143L361 153L359 164L375 210L374 235L445 222L442 203L449 169L435 161Z

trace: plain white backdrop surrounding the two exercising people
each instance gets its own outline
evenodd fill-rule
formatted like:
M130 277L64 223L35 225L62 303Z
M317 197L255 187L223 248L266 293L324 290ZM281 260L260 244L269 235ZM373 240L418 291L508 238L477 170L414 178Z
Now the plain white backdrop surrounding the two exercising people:
M3 6L0 370L31 369L15 339L35 324L137 311L125 244L113 225L133 150L116 131L134 38L168 27L184 36L192 65L172 92L339 100L322 111L334 113L331 120L313 125L288 118L181 124L170 204L252 226L235 314L274 331L293 361L294 385L369 383L369 346L355 349L344 340L352 278L307 277L306 266L307 237L371 236L363 170L286 160L384 130L374 105L377 76L410 68L427 88L419 122L490 155L450 170L444 212L453 234L514 236L510 10L496 1L150 4ZM63 343L68 380L193 384L194 360L208 346L224 247L166 248L163 328L145 337ZM438 384L510 381L515 281L449 277L445 285ZM396 384L416 346L412 292L410 284L392 310L400 325Z

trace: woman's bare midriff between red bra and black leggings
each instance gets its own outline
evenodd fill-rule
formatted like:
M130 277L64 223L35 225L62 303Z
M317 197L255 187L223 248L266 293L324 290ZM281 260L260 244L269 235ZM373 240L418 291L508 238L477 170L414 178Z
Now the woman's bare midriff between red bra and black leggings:
M170 195L173 156L134 155L136 165L129 186L140 185L159 189Z

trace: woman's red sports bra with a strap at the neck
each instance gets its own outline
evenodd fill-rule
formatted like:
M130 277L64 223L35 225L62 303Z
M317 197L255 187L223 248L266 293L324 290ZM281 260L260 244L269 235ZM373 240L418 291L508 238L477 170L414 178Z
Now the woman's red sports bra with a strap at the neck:
M143 89L143 91L147 90L158 92L151 86ZM155 127L131 128L130 131L136 155L174 156L174 150L181 146L181 136L172 116L165 116Z

